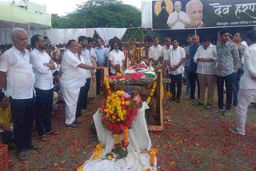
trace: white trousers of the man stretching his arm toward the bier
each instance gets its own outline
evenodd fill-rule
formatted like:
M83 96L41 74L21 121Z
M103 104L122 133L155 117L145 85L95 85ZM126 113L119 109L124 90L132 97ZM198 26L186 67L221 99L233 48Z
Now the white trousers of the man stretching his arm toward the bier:
M66 125L70 125L75 121L79 92L80 87L62 87L62 95L66 103Z

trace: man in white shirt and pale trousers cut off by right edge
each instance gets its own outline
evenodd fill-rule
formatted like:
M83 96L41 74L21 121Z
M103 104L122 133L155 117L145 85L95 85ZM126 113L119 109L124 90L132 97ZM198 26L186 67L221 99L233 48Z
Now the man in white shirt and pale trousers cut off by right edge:
M251 31L246 36L249 48L244 52L244 74L240 81L238 92L237 127L230 129L231 133L246 134L247 108L256 98L256 32Z

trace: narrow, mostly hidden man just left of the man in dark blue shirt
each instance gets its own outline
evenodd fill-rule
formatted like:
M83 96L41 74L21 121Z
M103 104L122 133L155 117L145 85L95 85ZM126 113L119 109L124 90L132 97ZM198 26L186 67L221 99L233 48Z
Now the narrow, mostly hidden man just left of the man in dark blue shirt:
M192 43L192 34L189 34L186 36L186 42L188 46L186 46L184 49L186 51L186 60L184 62L184 72L185 72L185 78L186 78L186 93L190 94L190 46L193 45Z

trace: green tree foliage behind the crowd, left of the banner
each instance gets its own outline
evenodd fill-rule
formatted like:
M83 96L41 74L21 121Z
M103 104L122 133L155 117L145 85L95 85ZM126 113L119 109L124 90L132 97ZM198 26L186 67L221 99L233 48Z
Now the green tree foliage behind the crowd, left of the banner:
M65 17L52 14L53 28L122 28L140 25L140 10L120 0L89 0Z

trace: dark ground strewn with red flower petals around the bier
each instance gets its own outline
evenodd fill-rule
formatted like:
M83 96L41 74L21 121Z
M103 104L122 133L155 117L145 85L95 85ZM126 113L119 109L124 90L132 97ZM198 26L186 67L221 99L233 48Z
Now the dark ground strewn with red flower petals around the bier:
M184 89L184 88L183 88ZM43 145L39 152L29 151L28 161L18 161L15 150L9 150L8 170L75 170L94 150L98 139L90 133L92 115L102 96L90 99L90 109L83 111L77 129L66 128L64 110L54 114L54 129L62 134L51 141L34 141ZM216 105L216 104L215 104ZM166 102L165 130L150 132L152 144L159 149L158 170L256 170L256 109L250 107L246 136L230 133L235 126L235 112L230 117L210 113L202 106L190 105L182 93L182 103Z

